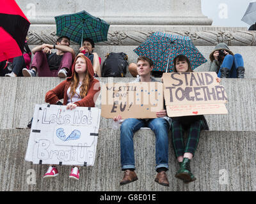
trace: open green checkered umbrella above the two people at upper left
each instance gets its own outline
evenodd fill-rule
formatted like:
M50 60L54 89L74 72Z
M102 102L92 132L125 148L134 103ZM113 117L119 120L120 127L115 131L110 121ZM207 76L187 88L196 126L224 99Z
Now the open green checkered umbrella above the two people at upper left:
M108 41L109 24L86 11L59 15L54 18L57 36L67 36L76 43L83 43L84 38L91 38L95 43Z

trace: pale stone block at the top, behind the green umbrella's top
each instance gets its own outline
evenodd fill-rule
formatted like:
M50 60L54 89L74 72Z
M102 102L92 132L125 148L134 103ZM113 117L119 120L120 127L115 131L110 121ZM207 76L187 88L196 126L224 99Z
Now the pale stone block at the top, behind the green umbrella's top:
M17 0L32 24L54 24L54 16L86 10L116 25L211 25L202 14L200 0L164 1L51 1ZM182 6L180 6L182 4ZM49 10L51 5L51 10Z

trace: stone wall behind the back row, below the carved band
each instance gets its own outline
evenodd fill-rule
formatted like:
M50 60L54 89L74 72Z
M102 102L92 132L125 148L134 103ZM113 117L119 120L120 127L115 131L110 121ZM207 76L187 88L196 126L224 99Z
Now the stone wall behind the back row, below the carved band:
M29 46L31 49L35 47L35 45ZM137 62L138 55L133 51L137 46L112 46L112 45L96 45L95 46L95 52L99 54L100 58L102 59L101 67L106 59L106 55L110 52L124 52L128 55L128 62ZM196 46L198 50L204 55L205 59L207 59L207 62L199 66L195 69L195 71L209 71L210 66L210 59L209 55L214 50L215 46ZM78 45L72 45L72 48L78 53L79 46ZM255 71L255 53L256 53L256 47L255 46L230 46L230 50L234 54L239 53L243 56L244 59L244 77L245 78L256 78L256 71ZM131 73L129 73L127 68L127 73L125 77L132 77Z

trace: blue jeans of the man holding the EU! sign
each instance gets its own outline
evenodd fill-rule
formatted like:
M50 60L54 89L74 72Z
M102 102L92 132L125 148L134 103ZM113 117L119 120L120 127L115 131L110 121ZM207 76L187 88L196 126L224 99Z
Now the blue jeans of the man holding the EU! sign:
M152 129L156 135L156 170L168 166L168 122L163 118L148 119L126 119L120 128L120 149L122 170L135 169L133 135L140 128Z

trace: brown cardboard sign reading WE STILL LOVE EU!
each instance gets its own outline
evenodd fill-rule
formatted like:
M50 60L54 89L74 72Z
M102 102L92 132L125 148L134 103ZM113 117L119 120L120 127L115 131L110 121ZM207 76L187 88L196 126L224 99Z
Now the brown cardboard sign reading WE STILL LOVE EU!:
M161 82L109 83L102 86L101 115L123 119L153 119L163 110Z

